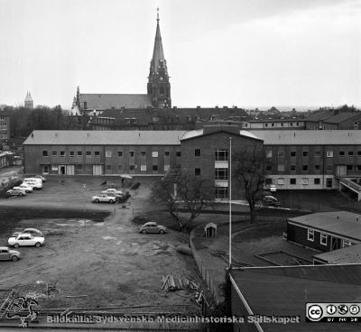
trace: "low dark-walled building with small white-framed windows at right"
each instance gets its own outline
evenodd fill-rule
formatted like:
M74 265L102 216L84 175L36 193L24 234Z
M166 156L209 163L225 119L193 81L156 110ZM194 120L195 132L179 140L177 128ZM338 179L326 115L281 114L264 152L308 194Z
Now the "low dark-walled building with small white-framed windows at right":
M319 212L287 219L287 241L329 252L361 243L361 215Z

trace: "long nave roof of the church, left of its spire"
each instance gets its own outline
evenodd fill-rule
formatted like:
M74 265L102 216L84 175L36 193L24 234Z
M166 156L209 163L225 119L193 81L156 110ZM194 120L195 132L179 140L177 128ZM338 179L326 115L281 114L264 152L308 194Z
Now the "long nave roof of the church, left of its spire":
M106 110L109 108L146 108L152 106L152 100L146 94L80 94L80 106L87 111Z

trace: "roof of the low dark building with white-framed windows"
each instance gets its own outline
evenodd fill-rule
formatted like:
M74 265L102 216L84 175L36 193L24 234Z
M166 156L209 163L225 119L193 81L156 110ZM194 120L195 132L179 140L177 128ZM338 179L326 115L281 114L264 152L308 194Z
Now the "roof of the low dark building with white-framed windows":
M288 221L297 225L319 229L325 233L361 241L361 215L356 213L347 211L319 212L289 218Z

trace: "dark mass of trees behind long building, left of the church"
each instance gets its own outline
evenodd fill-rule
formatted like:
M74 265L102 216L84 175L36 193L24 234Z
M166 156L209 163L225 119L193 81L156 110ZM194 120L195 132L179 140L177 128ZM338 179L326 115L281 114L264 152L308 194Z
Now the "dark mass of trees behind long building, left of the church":
M5 106L10 115L10 136L25 138L32 130L72 130L81 129L81 118L69 115L61 106L36 106L30 109L23 106Z

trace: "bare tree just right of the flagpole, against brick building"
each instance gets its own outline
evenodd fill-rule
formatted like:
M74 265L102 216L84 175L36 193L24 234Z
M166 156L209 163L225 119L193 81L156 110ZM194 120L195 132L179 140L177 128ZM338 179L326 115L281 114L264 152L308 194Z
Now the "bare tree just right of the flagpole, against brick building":
M245 147L234 155L236 177L245 189L252 222L255 222L255 203L262 198L264 189L264 152L262 146Z

